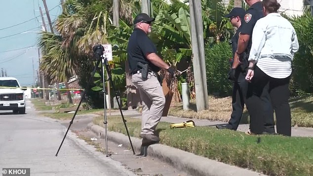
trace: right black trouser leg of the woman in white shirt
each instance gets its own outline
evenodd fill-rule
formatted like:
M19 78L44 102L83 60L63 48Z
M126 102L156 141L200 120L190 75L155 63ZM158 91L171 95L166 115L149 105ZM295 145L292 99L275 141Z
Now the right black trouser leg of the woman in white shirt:
M291 113L289 106L289 80L287 78L271 78L270 95L276 115L277 133L291 136Z

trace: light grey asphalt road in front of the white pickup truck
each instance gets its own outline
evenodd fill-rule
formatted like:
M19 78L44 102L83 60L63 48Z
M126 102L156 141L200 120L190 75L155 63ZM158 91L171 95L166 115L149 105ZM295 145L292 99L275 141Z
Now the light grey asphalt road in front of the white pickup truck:
M30 168L31 176L134 176L120 162L96 152L67 128L40 117L30 103L26 114L0 111L0 170Z

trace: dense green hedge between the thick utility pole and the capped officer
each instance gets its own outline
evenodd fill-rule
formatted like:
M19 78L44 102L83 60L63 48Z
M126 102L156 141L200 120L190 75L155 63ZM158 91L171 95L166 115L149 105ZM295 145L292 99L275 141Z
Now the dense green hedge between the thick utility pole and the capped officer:
M228 71L232 55L231 46L226 41L205 49L206 82L209 94L231 95L232 83L228 80Z

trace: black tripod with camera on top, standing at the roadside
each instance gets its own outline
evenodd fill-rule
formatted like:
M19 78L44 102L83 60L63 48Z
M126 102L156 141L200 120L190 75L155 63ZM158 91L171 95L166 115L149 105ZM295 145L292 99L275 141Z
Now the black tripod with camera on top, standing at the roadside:
M105 82L106 82L106 81L105 81L105 78L104 78L104 67L105 67L106 70L107 70L108 80L111 81L111 85L112 85L113 91L115 92L115 96L116 96L116 100L117 100L117 105L118 105L119 112L120 112L120 115L121 115L121 117L122 117L123 123L124 123L124 125L125 125L125 129L126 129L126 132L127 132L127 136L128 136L129 142L130 142L131 149L132 149L132 151L133 151L133 154L135 154L135 150L134 150L133 144L132 144L132 142L131 142L131 140L130 140L130 136L129 136L129 133L128 133L128 130L127 130L126 120L125 120L125 118L124 118L124 116L123 116L122 108L121 108L120 103L119 103L119 101L118 101L117 91L116 91L115 86L114 86L114 83L113 83L113 81L112 81L111 69L110 69L110 67L109 67L107 58L103 57L103 54L104 54L104 51L105 51L105 50L104 50L104 47L103 47L102 45L96 45L96 46L94 46L92 49L93 49L94 55L96 56L97 63L96 63L96 65L95 65L95 67L94 67L94 69L93 69L93 71L92 71L91 77L89 78L86 87L89 87L89 85L90 85L90 83L91 83L91 80L92 80L92 77L93 77L94 74L96 73L97 68L98 68L100 62L102 62L102 76L103 76L103 90L102 90L102 92L103 92L103 97L104 97L104 122L103 122L103 123L104 123L104 127L105 127L106 156L108 157L109 155L108 155L108 135L107 135L107 124L108 124L108 122L107 122L106 99L105 99ZM101 72L101 71L100 71L100 72ZM85 97L85 92L86 92L86 90L84 90L83 93L82 93L82 95L81 95L80 102L79 102L79 104L78 104L78 106L77 106L77 108L76 108L76 111L75 111L75 113L74 113L74 115L73 115L73 118L72 118L72 120L71 120L71 122L70 122L69 128L67 129L67 131L66 131L66 133L65 133L65 135L64 135L64 138L63 138L63 140L62 140L62 142L61 142L61 144L60 144L60 146L59 146L59 149L58 149L57 153L55 154L55 156L58 156L58 153L59 153L59 151L60 151L60 148L61 148L61 146L62 146L62 144L63 144L63 142L64 142L64 140L65 140L65 137L66 137L67 133L69 132L71 125L73 124L74 118L75 118L75 116L76 116L76 114L77 114L77 112L78 112L78 108L79 108L80 104L82 103L82 100L83 100L84 97Z

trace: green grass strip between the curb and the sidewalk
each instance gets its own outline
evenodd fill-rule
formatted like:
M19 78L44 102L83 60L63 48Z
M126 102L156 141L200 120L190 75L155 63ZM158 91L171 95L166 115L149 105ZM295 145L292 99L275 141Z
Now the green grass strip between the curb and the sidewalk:
M139 138L140 119L126 120L129 134ZM103 117L96 117L93 122L103 126ZM109 116L108 122L109 130L126 135L121 117ZM313 175L313 138L264 135L259 140L258 136L230 130L169 129L169 125L160 122L157 126L161 144L266 175Z

